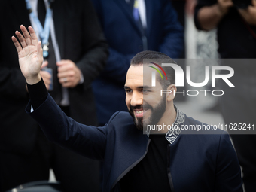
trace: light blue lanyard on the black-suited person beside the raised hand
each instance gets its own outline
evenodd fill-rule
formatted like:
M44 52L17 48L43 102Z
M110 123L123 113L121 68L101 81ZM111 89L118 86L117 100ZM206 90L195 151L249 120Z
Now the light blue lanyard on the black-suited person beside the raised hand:
M32 18L32 20L35 22L35 25L38 29L42 44L43 44L43 55L44 57L48 56L48 50L49 48L47 47L49 45L48 39L50 35L50 20L52 17L52 11L50 9L50 2L48 3L47 6L47 11L46 11L46 16L44 20L44 28L40 23L40 20L38 20L38 17L36 17L34 11L32 11L32 7L29 3L29 0L26 0L26 8L29 10L29 16Z

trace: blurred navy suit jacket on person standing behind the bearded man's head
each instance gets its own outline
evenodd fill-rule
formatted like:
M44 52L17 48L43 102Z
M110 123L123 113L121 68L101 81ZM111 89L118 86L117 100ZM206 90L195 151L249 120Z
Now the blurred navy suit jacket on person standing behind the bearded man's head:
M115 111L127 111L123 85L130 59L143 50L142 32L125 0L92 0L110 47L105 70L93 82L97 116L108 123ZM183 50L184 31L170 0L145 0L148 49L171 58Z

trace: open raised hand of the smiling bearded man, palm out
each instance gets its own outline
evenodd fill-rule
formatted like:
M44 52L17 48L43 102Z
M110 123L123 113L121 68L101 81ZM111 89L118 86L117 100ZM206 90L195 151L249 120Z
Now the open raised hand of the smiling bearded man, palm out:
M26 78L26 82L28 84L36 84L41 80L40 69L44 60L41 42L38 42L32 26L29 26L29 32L23 25L20 26L20 29L23 35L18 31L15 32L20 43L14 36L11 39L17 49L20 69Z

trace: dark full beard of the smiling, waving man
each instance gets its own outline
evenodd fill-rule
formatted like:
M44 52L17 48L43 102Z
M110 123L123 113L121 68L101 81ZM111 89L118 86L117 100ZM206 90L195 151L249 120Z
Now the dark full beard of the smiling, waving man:
M148 120L143 120L143 117L135 117L134 109L142 109L142 110L151 110L151 116L148 117ZM133 122L138 130L143 130L143 126L147 127L147 125L156 125L161 117L163 117L164 112L166 111L166 96L163 96L163 99L159 102L159 104L152 108L151 105L145 103L143 105L131 106L129 113L133 117Z

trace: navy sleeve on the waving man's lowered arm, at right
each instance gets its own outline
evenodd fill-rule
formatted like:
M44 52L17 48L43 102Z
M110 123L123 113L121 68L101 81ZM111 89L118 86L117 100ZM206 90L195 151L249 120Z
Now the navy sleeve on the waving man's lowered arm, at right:
M243 191L236 151L227 133L222 133L220 137L215 177L215 191Z

